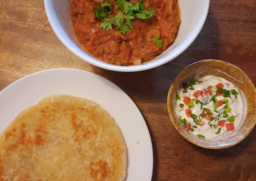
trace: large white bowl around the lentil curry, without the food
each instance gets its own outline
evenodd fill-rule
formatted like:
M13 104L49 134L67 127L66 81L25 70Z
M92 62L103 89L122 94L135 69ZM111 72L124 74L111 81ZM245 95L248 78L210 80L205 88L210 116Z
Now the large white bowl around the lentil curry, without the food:
M136 66L117 66L100 61L80 45L75 37L71 20L72 0L44 0L45 11L55 34L73 53L86 62L108 70L133 72L151 69L180 55L195 40L207 17L210 0L179 0L181 24L175 42L153 61Z

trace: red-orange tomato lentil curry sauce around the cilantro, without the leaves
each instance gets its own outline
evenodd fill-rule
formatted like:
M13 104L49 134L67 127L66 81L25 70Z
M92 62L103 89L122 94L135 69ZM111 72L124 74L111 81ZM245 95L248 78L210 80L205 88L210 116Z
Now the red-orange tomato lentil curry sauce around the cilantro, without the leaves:
M114 65L139 65L153 60L174 42L180 24L177 0L143 0L146 10L154 9L156 16L149 19L132 19L133 29L125 34L116 28L100 28L102 20L97 19L93 10L100 7L100 1L73 0L71 3L71 22L78 41L87 52L100 60ZM112 3L114 17L120 10L117 0L103 0ZM130 0L135 4L138 0ZM162 46L152 40L160 36Z

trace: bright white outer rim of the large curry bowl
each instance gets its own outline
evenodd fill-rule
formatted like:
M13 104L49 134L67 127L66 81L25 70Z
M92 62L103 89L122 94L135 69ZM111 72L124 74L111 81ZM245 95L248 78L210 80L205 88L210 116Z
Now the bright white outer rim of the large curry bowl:
M197 24L197 28L194 28L191 33L188 35L188 38L186 39L186 41L182 42L179 46L175 47L171 54L165 55L164 57L146 63L146 64L142 64L142 65L136 65L136 66L117 66L117 65L111 65L108 63L105 63L103 61L95 61L95 59L88 55L88 56L82 56L79 54L79 52L73 48L71 45L67 44L65 42L65 37L62 33L60 33L60 29L58 28L58 25L56 23L54 23L56 20L56 15L53 15L52 11L51 11L51 1L52 0L44 0L44 5L45 5L45 11L46 11L46 15L47 18L49 20L49 23L52 27L52 29L54 30L55 34L58 36L58 38L61 40L61 42L70 50L72 51L74 54L76 54L78 57L80 57L81 59L85 60L86 62L95 65L97 67L101 67L104 69L108 69L108 70L114 70L114 71L121 71L121 72L134 72L134 71L142 71L142 70L148 70L151 68L155 68L158 67L160 65L163 65L167 62L169 62L170 60L175 59L177 56L179 56L182 52L184 52L195 40L195 38L197 37L197 35L199 34L199 32L201 31L202 27L204 26L207 14L208 14L208 10L209 10L209 4L210 4L210 0L205 0L207 2L207 6L205 7L203 13L202 13L202 20L200 22L198 22Z

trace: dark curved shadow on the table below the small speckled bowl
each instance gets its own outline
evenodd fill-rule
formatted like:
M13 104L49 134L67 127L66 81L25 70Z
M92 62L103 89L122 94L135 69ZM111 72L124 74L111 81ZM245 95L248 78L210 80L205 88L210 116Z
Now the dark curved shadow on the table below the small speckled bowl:
M247 135L241 142L239 142L238 144L228 147L228 148L223 148L223 149L207 149L207 148L202 148L199 147L197 145L194 145L193 143L190 143L189 141L187 141L187 143L189 144L190 147L192 147L194 150L207 155L209 157L212 157L214 159L216 159L216 161L218 159L222 159L225 157L234 157L236 155L242 155L243 151L245 151L246 148L250 147L252 144L252 141L254 140L256 135L256 129L253 128L253 130L251 131L251 133L249 133L249 135ZM232 154L230 154L232 153Z

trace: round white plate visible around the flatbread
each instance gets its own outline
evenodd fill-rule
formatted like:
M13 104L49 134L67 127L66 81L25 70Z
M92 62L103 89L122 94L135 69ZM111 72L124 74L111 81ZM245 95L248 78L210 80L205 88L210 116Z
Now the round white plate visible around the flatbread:
M94 73L52 69L21 78L0 92L0 132L19 112L44 97L68 94L100 104L119 126L127 151L127 181L150 181L153 150L150 134L137 106L122 89Z

